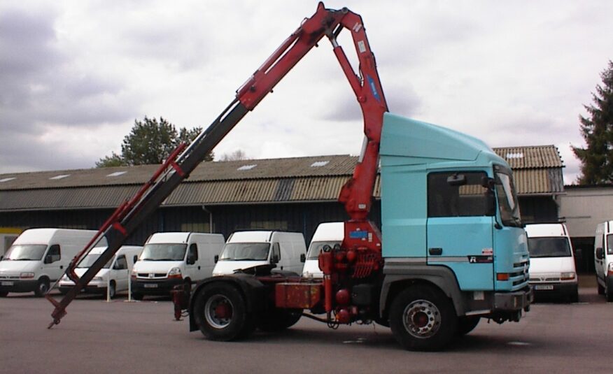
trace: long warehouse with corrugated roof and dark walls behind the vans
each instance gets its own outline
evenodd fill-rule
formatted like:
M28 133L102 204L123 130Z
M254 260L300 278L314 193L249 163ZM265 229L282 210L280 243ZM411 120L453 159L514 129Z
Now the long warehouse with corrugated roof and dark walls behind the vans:
M553 145L497 148L512 166L526 222L558 219L563 164ZM142 244L156 231L230 233L243 229L299 231L310 240L320 222L342 221L337 202L358 157L348 155L206 162L129 238ZM0 227L97 229L158 166L91 168L0 175ZM381 225L379 178L371 218Z

